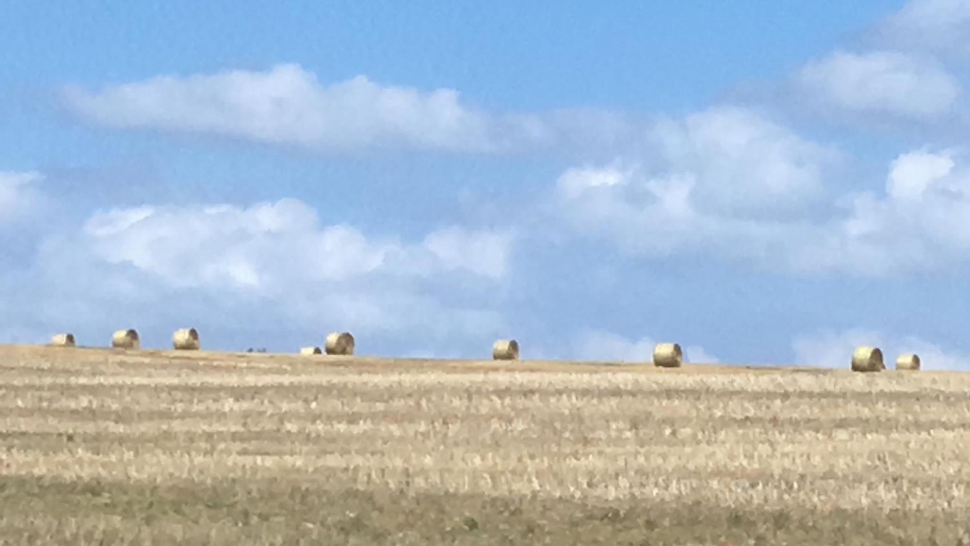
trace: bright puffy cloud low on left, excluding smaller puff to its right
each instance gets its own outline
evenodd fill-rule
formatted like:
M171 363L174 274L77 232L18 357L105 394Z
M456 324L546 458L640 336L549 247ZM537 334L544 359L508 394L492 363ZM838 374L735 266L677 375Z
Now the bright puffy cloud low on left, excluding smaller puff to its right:
M320 227L302 201L247 208L141 206L94 214L78 244L109 263L128 263L174 287L282 288L294 276L340 281L380 267L392 244L352 227Z

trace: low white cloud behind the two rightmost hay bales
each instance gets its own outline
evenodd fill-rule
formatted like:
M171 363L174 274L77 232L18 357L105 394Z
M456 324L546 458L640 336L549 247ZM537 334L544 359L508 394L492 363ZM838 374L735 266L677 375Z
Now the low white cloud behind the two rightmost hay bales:
M849 368L852 353L859 346L883 351L887 369L895 367L901 354L920 355L923 370L968 370L970 356L941 349L915 336L889 336L884 332L853 328L841 332L825 330L802 335L792 342L795 364L820 368Z

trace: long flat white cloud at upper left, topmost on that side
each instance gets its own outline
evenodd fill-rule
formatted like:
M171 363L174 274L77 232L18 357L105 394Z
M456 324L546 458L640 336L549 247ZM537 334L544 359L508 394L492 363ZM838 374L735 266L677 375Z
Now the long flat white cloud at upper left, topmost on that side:
M229 136L313 150L502 151L546 138L533 116L498 116L457 91L384 86L366 76L331 85L298 65L266 72L157 76L99 91L64 89L87 120L114 128Z

